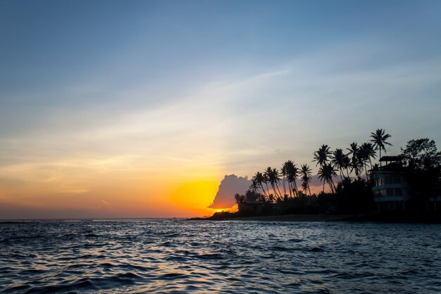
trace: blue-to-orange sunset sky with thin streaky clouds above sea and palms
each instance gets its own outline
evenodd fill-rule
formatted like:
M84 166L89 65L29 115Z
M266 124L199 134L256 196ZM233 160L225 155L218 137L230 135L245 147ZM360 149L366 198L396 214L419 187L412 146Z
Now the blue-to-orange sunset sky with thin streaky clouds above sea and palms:
M0 219L212 214L225 175L441 143L441 1L0 1Z

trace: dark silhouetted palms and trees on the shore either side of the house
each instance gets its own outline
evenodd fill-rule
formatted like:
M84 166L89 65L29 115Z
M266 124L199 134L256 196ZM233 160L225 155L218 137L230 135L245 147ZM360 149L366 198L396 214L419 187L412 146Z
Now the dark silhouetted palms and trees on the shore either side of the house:
M371 175L386 153L391 136L378 129L367 142L352 142L346 149L321 145L313 152L322 190L311 194L311 167L287 160L280 169L257 171L244 195L235 195L235 216L274 214L370 214L375 211ZM440 186L441 152L429 139L410 140L400 157L409 182L411 207L422 207ZM325 191L325 188L327 191ZM232 216L230 213L225 213Z

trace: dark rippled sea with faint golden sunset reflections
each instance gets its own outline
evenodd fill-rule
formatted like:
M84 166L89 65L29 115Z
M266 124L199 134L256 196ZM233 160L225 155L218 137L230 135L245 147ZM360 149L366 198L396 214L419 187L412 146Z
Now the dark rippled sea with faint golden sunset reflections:
M0 223L2 293L441 293L441 226Z

